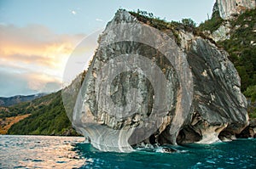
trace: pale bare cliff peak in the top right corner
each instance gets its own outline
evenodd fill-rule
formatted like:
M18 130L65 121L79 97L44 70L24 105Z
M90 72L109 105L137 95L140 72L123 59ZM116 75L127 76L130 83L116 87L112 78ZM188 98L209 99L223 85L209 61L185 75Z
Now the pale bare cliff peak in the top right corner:
M217 0L220 16L229 20L234 15L241 14L247 9L255 8L255 0Z

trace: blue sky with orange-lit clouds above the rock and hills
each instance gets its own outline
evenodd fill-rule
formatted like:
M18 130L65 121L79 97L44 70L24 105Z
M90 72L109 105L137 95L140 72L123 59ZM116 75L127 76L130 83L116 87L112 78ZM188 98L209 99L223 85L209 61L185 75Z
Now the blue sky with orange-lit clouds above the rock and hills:
M119 8L145 10L165 20L212 14L214 0L0 0L0 97L61 89L74 48L96 38Z

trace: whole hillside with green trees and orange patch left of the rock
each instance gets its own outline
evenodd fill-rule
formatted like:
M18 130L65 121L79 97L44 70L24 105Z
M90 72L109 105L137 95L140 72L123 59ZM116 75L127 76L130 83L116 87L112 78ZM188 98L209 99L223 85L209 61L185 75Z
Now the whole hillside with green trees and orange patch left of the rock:
M63 90L67 90L70 93L78 93L79 90L76 89L81 85L84 76L85 71L81 73L69 87ZM75 104L75 100L76 99L70 99L68 100L68 103ZM73 130L71 121L69 121L67 117L62 102L61 90L34 99L30 102L16 104L7 108L0 107L0 133L1 120L4 119L5 121L3 121L2 124L5 124L8 123L8 121L13 120L11 117L24 117L24 115L27 116L22 120L13 123L13 125L8 128L9 130L4 132L7 132L7 134L21 135L79 135Z

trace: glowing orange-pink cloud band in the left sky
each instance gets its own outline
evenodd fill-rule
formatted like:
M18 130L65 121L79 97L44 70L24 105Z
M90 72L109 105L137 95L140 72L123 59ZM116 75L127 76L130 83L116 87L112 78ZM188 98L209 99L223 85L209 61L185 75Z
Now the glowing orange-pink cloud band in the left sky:
M1 61L59 69L84 35L57 35L43 25L0 25ZM61 63L61 64L59 64Z

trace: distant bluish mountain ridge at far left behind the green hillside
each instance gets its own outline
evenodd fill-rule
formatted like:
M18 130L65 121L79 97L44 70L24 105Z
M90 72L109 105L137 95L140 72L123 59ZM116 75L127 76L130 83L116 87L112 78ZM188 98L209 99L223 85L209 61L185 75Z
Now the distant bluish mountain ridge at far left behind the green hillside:
M0 97L0 106L10 106L15 104L20 104L22 102L32 101L33 99L41 98L42 96L46 95L45 93L38 93L32 95L17 95L9 98Z

